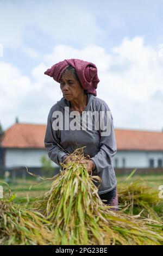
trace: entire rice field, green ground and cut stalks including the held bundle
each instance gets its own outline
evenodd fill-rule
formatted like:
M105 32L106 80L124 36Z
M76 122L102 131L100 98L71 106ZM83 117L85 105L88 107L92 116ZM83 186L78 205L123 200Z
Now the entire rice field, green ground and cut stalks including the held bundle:
M115 211L99 198L100 178L88 174L79 155L84 159L76 151L76 160L53 180L33 175L26 184L3 184L0 244L163 245L163 175L117 176Z

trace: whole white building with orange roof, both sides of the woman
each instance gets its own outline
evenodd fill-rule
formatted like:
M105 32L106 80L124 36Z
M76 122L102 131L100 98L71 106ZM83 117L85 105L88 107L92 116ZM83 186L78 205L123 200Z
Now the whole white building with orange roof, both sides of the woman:
M0 154L4 167L41 167L46 125L16 123L5 131ZM116 168L163 167L163 132L115 129ZM57 166L52 162L52 166Z

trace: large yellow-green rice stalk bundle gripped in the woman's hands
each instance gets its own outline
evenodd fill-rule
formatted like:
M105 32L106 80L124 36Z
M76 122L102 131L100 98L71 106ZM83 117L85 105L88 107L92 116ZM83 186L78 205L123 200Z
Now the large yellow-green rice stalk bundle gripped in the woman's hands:
M75 160L63 164L51 189L35 203L53 223L55 245L163 244L160 222L111 211L98 196L95 182L100 182L99 176L89 175L79 163L79 151L72 155Z

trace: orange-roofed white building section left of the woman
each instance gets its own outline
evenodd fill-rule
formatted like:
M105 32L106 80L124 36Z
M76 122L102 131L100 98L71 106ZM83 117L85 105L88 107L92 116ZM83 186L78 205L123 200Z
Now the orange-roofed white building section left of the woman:
M43 143L45 131L46 125L16 123L9 127L1 142L2 166L41 167L41 157L47 156ZM52 162L52 166L57 164Z

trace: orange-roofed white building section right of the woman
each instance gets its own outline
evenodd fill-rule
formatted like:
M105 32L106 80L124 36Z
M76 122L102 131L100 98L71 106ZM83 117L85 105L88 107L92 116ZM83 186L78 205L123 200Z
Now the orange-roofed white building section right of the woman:
M116 168L162 168L163 132L115 129Z

